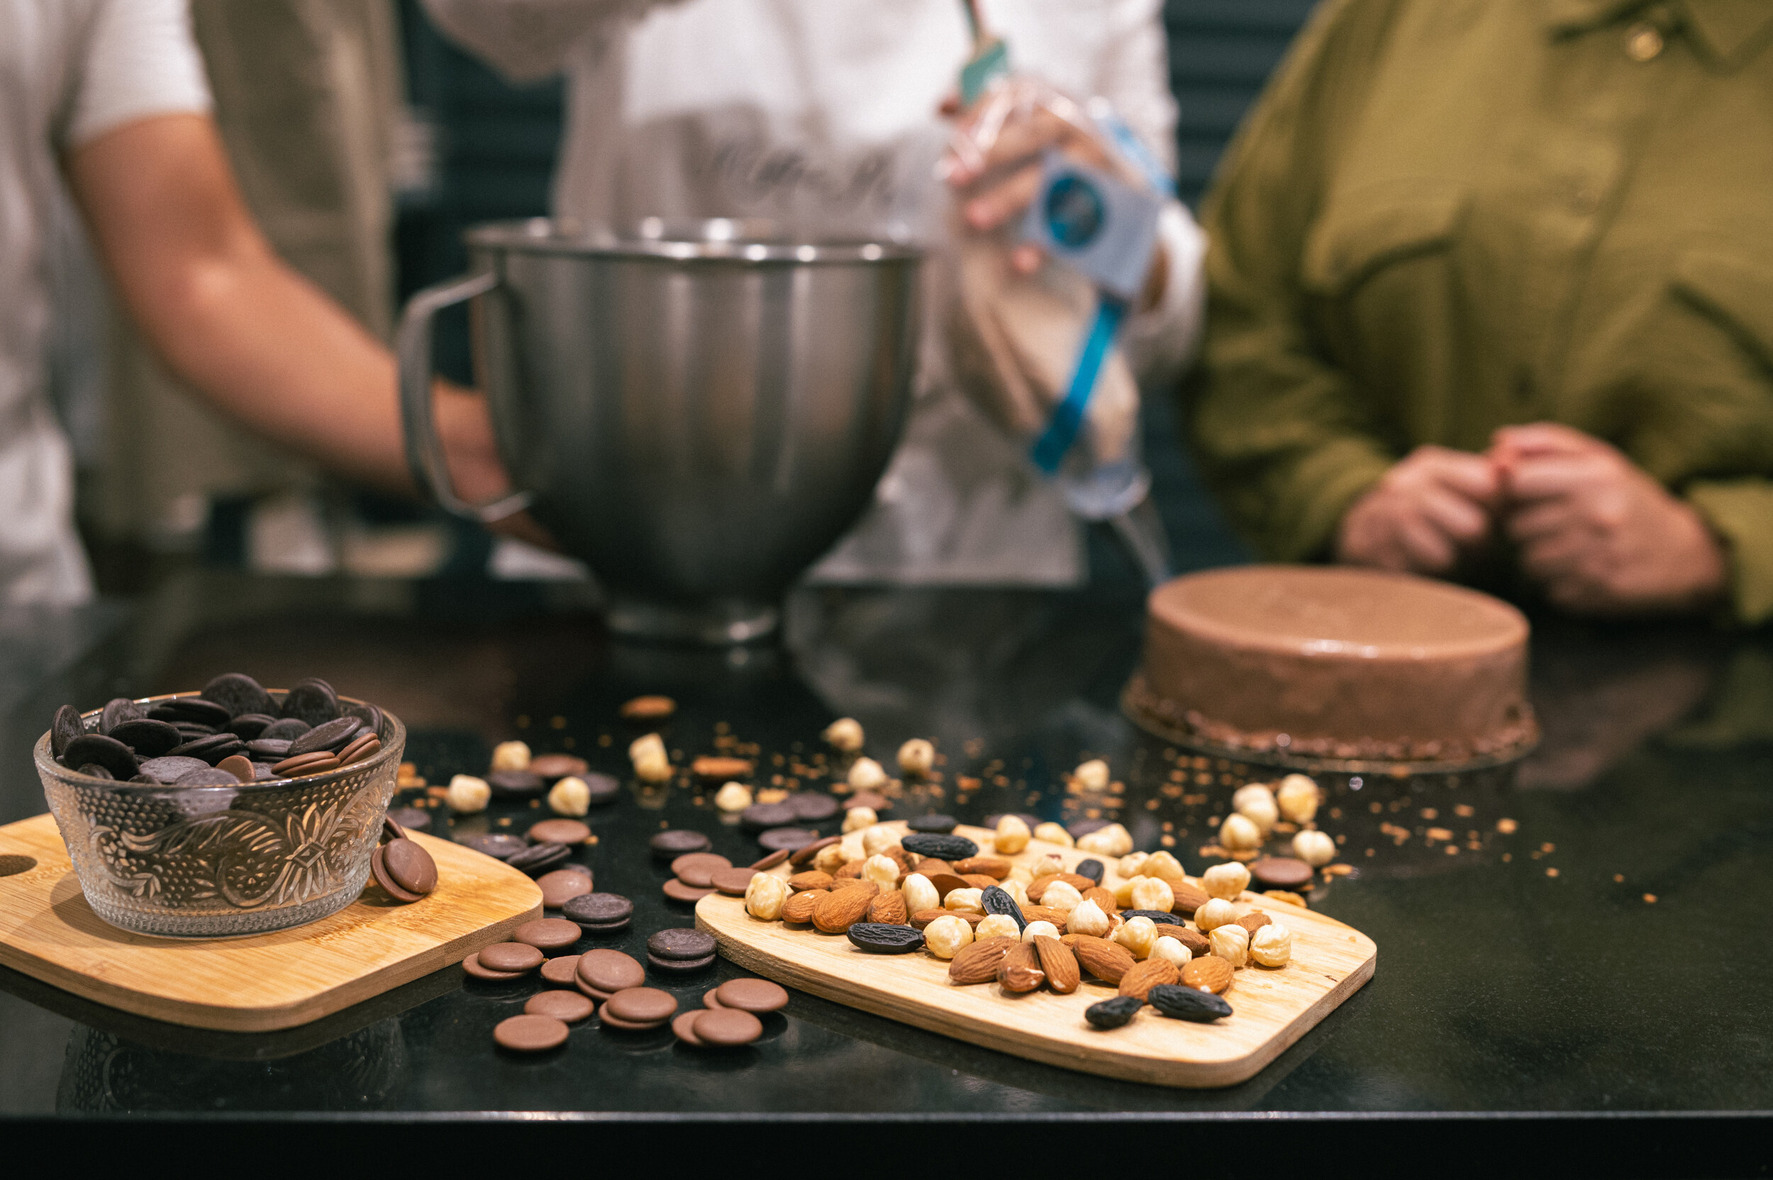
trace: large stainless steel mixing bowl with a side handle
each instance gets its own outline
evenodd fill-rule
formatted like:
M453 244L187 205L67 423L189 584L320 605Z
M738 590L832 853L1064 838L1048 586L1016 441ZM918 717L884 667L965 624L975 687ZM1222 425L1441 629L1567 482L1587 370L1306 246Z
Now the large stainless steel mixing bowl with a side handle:
M413 474L450 511L528 507L610 593L619 633L739 642L856 520L917 358L917 250L766 240L741 222L628 238L468 231L470 273L401 335ZM431 424L431 319L473 300L475 376L518 492L465 504Z

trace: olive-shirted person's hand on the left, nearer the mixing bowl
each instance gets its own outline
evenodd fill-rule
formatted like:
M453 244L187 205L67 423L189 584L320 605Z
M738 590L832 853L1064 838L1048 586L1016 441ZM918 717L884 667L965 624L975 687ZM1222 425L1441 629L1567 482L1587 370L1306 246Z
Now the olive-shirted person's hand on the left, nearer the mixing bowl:
M1335 559L1452 573L1489 539L1498 492L1496 468L1482 454L1417 447L1342 515Z

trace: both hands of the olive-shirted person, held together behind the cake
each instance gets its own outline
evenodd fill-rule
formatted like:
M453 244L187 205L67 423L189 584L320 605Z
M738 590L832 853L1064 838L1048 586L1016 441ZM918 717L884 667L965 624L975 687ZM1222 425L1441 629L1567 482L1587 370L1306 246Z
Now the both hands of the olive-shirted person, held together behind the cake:
M1578 614L1699 610L1727 589L1699 513L1615 447L1569 426L1498 429L1489 451L1417 447L1342 516L1337 561L1447 577L1498 541Z

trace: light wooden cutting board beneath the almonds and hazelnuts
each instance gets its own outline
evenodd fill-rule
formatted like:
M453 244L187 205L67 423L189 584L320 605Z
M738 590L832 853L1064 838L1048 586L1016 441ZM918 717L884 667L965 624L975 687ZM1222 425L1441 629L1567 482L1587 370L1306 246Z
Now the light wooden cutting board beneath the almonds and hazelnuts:
M888 827L904 832L902 823ZM956 834L991 848L989 830L961 827ZM1027 852L1009 859L1032 866L1046 854L1058 855L1066 868L1089 857L1030 841ZM1105 861L1112 884L1113 862ZM791 869L773 871L787 877ZM741 898L722 894L697 903L695 923L741 967L839 1004L1085 1074L1207 1088L1252 1077L1371 979L1378 962L1372 939L1333 917L1254 893L1238 909L1266 910L1293 930L1293 962L1239 971L1225 992L1232 1015L1215 1024L1170 1020L1145 1008L1112 1031L1083 1020L1085 1008L1115 994L1103 983L1083 983L1071 995L1011 995L995 983L961 987L949 983L949 964L929 953L869 955L844 935L759 921L745 912Z

